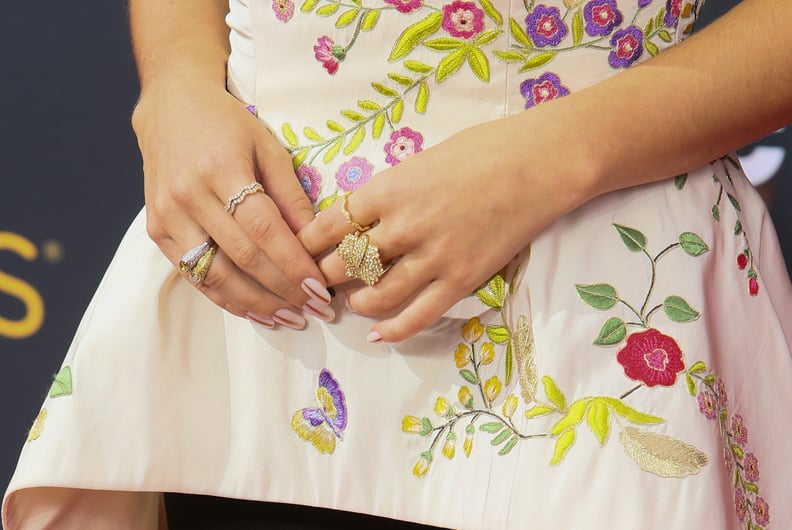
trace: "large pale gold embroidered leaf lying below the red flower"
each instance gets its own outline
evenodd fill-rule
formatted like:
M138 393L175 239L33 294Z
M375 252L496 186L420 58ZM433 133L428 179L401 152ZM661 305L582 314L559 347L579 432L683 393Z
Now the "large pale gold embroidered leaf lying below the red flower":
M709 462L702 451L665 434L627 426L619 433L619 441L638 467L660 477L695 475Z

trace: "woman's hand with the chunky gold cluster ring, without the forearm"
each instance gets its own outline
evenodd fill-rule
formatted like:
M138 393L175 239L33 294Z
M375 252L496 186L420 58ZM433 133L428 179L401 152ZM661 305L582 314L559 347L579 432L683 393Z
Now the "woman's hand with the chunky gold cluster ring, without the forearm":
M558 173L568 149L554 146L544 135L526 133L526 117L457 133L377 174L349 196L352 219L376 223L366 234L382 262L392 262L374 286L356 281L360 287L350 290L349 307L376 317L407 302L372 327L370 341L397 342L423 330L486 282L542 228L582 202ZM313 256L354 231L341 202L298 233ZM350 281L336 251L321 257L319 267L330 285Z

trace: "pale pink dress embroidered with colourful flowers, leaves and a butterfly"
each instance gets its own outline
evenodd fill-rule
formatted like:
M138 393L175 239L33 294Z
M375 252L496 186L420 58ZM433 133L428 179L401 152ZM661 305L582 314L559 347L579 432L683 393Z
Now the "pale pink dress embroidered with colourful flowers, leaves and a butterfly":
M232 0L229 88L322 209L649 59L699 7ZM463 529L790 528L790 290L735 156L591 201L394 345L342 296L302 331L222 312L141 213L20 440L5 528L88 528L80 503L162 528L162 491Z

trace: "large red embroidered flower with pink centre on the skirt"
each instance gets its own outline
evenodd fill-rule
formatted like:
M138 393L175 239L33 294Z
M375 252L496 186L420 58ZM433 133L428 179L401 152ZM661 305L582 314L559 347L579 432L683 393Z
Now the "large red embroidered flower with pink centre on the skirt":
M674 339L656 329L633 333L616 354L630 379L646 386L673 386L677 373L685 368L682 351Z

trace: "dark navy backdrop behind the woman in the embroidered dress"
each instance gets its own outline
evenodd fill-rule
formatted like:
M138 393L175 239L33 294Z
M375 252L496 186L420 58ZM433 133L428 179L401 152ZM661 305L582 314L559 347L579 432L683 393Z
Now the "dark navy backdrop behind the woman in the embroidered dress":
M699 27L734 3L712 0ZM10 232L38 249L27 260L0 244L4 491L82 313L143 204L143 180L129 124L138 85L125 2L9 3L0 20L0 65L0 241ZM740 154L759 144L790 150L762 187L790 263L792 127ZM42 325L28 336L7 331L28 314L9 294L8 275L43 299Z

